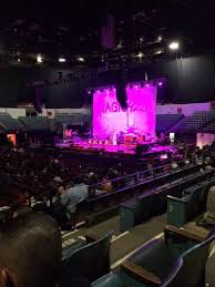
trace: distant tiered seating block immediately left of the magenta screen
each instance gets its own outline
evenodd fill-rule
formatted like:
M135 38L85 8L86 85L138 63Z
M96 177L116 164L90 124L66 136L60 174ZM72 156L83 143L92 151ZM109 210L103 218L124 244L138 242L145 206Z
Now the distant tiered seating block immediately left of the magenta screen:
M57 123L80 125L89 121L89 115L85 114L57 114Z

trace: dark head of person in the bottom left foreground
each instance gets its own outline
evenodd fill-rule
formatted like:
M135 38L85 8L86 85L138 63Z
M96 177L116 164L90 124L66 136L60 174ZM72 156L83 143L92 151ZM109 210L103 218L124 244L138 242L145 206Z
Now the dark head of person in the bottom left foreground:
M0 236L0 287L53 287L59 280L62 240L44 214L14 218Z

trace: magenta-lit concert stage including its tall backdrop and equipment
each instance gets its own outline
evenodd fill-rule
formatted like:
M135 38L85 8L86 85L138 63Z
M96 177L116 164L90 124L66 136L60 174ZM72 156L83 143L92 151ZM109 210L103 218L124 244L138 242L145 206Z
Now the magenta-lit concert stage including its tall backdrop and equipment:
M122 106L116 88L101 88L93 93L93 121L89 136L71 131L71 141L59 147L82 152L155 156L170 150L156 143L156 85L126 85L126 104ZM64 131L63 139L66 139Z

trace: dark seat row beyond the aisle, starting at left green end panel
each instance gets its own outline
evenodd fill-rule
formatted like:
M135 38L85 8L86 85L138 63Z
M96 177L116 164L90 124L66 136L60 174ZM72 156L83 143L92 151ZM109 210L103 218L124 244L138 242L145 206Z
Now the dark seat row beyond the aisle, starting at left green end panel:
M151 189L144 193L143 195L137 196L136 198L133 198L129 202L121 204L120 230L125 232L127 229L131 229L135 225L149 219L151 216L166 212L167 203L170 205L170 201L168 201L170 198L176 198L173 196L180 196L182 191L186 188L187 188L186 191L194 188L191 186L193 186L196 183L199 183L199 186L203 188L205 187L205 185L203 185L202 182L206 181L206 184L207 184L206 186L209 188L209 186L215 181L215 180L211 180L213 174L214 174L213 170L207 171L205 173L198 172L194 176L183 180L183 182L178 182L178 183L176 182L175 184L172 184L171 186L164 187L160 191ZM192 196L193 196L192 198L194 198L194 194ZM194 199L192 201L191 206L193 206L193 204L194 204ZM193 206L193 208L196 208L196 207ZM168 209L170 208L167 208L167 211ZM177 212L174 218L180 221L181 214L178 214ZM173 224L173 222L168 222L168 223Z

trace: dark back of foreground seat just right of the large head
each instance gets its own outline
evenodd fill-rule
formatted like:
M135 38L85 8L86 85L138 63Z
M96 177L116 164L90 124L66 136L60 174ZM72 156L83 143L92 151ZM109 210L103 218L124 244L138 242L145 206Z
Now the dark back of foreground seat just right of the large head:
M113 232L72 253L65 262L65 268L69 268L76 276L89 278L90 281L108 274L110 271L112 234Z

